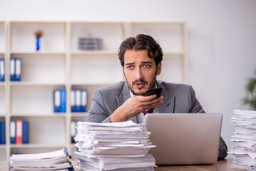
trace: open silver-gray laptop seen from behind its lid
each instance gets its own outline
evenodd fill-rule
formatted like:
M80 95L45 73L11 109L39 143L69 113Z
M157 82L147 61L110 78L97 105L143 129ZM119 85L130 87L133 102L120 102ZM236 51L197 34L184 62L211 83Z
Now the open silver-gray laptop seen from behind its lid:
M200 165L217 162L222 114L152 113L145 116L149 153L156 165Z

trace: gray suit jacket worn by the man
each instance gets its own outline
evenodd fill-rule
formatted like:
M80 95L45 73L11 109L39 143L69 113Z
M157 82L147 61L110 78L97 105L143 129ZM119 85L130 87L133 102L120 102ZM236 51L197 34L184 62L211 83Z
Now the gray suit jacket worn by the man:
M195 98L195 90L191 86L183 84L165 83L157 81L157 87L163 88L163 104L159 105L159 113L205 113L202 106ZM130 91L126 81L116 83L106 88L101 88L93 93L93 103L87 122L110 123L109 116L126 100L130 98ZM131 117L138 123L136 117ZM227 145L220 137L220 147L218 159L227 156Z

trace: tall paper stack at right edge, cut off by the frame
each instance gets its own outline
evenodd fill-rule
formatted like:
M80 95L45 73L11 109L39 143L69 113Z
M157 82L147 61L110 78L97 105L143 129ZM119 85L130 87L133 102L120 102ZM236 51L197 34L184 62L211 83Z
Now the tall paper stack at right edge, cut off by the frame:
M231 121L235 125L229 152L234 155L232 167L256 170L256 111L234 110Z

